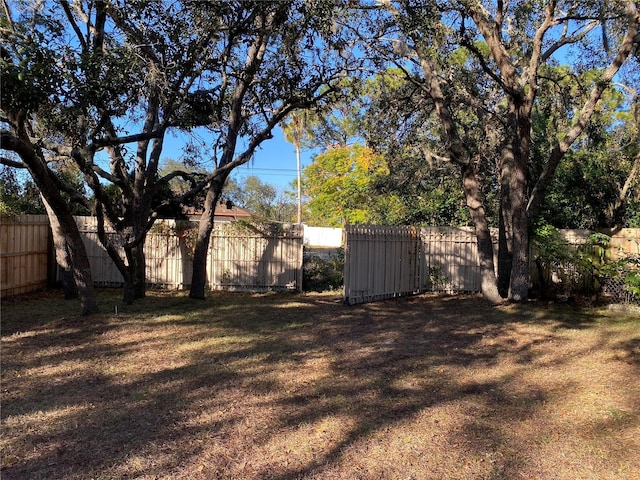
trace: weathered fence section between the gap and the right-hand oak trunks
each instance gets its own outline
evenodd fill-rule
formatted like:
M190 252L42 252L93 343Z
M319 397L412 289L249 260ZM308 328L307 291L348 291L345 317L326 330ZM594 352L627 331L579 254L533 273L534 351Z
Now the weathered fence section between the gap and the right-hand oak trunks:
M473 228L348 226L345 232L346 303L480 291Z

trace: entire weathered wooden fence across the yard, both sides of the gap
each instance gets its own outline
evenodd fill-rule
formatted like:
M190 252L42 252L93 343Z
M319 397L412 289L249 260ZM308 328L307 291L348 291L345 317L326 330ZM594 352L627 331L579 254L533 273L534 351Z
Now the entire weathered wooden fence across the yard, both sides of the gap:
M97 237L96 220L77 217L97 286L119 286L122 277ZM580 243L587 231L567 231ZM175 221L154 227L146 243L147 281L188 287L192 234ZM574 238L575 237L575 238ZM640 256L640 229L611 236L610 256ZM302 288L303 229L297 225L250 227L217 224L207 260L208 287L228 290ZM44 289L55 272L46 215L0 222L2 297ZM55 279L55 278L54 278ZM472 228L349 226L345 230L344 298L351 304L422 292L480 291Z

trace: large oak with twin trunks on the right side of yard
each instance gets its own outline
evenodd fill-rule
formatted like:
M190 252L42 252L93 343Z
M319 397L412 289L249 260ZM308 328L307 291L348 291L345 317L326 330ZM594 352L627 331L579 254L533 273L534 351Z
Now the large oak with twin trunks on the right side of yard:
M439 146L431 142L429 155L461 171L483 293L493 301L500 293L525 301L529 228L558 165L638 48L636 2L383 0L366 9L375 12L366 43L370 54L400 69L428 99L416 109L438 119ZM559 63L567 67L562 76L553 68ZM586 69L595 74L583 84ZM541 92L563 95L555 86L567 79L584 95L559 99L571 107L556 113L570 121L555 132L544 168L534 177L532 117L538 98ZM486 162L495 166L501 189L498 277L481 195Z

